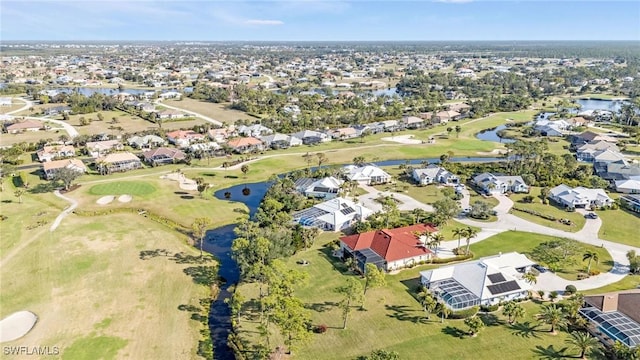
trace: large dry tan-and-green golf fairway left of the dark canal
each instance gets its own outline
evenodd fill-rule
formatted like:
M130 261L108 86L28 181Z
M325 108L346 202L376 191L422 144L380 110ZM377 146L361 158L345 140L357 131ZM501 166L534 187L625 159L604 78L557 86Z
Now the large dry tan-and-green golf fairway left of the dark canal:
M183 273L192 264L139 258L157 248L197 254L138 215L67 217L2 264L0 317L34 312L18 344L59 346L63 359L193 358L202 325L178 306L199 306L209 290Z

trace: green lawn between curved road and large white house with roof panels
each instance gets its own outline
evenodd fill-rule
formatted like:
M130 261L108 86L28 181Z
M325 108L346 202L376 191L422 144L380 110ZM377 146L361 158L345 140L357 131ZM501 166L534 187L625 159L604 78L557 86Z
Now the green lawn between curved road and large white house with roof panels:
M528 255L539 244L553 239L557 238L520 231L507 231L492 236L479 243L472 244L471 252L473 252L476 257L496 255L499 252L506 253L511 251ZM558 276L569 280L576 280L579 272L586 271L587 263L582 261L582 254L586 250L598 253L599 262L597 264L595 262L591 264L592 270L598 270L600 272L607 272L611 270L613 260L606 249L587 244L580 244L580 246L583 250L570 257L565 266L556 271Z

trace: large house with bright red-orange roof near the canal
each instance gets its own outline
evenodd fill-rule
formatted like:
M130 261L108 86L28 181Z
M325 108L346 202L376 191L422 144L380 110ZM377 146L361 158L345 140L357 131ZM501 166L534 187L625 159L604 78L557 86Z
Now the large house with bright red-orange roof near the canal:
M425 233L436 233L431 224L416 224L396 229L368 231L340 238L342 258L353 258L364 270L372 263L386 271L412 267L433 257L424 242Z

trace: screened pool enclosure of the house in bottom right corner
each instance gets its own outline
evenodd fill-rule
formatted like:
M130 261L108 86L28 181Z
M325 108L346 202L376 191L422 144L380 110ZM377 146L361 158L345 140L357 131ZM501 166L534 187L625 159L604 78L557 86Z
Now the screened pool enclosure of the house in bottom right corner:
M619 311L602 312L594 307L580 309L587 319L597 323L609 337L629 347L640 346L640 324Z

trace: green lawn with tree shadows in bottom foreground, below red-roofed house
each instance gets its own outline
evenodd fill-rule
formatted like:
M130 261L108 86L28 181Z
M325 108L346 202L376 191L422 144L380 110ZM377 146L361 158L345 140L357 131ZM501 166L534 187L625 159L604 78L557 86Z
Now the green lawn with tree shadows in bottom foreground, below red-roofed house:
M533 317L539 312L539 305L535 303L524 304L527 311L522 320L524 324L505 325L504 317L496 313L498 318L487 318L487 323L492 325L475 338L461 337L461 332L466 331L462 320L441 323L435 316L424 319L425 314L412 293L418 283L417 271L427 267L387 276L387 285L367 293L366 310L354 309L347 329L343 330L341 313L336 306L340 297L333 289L353 275L345 273L344 266L321 246L330 238L323 235L324 241L287 260L291 267L309 275L308 284L301 286L296 295L307 304L313 323L329 327L326 333L314 334L308 344L296 350L295 359L354 359L375 349L396 351L401 359L424 359L425 354L429 354L429 359L470 359L477 354L487 359L523 359L539 357L539 349L550 345L564 347L566 333L552 336L545 331L547 327L535 327ZM309 265L296 265L299 259L308 260ZM241 286L239 291L249 298L258 292L251 284ZM251 310L251 304L245 305L241 336L255 341L257 319ZM278 344L281 340L274 336L272 341Z

